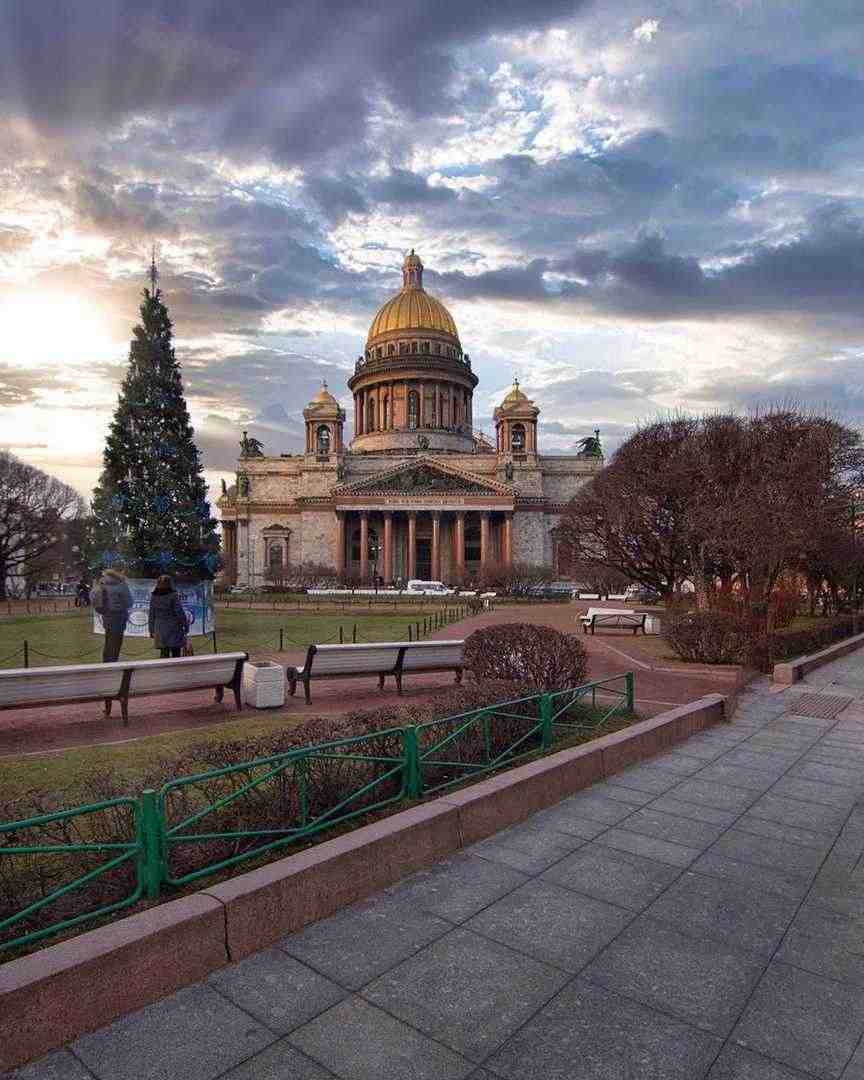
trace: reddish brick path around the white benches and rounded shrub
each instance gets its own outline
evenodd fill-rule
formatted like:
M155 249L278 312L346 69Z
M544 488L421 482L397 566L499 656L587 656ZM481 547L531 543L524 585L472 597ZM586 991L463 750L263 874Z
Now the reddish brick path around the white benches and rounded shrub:
M464 619L438 631L432 637L465 637L478 626L500 622L535 622L554 626L569 633L575 629L575 606L550 607L502 607L498 611ZM645 663L657 662L638 651L638 640L630 635L604 634L581 638L590 653L590 678L599 679L608 675L620 675L635 671L637 705L646 716L662 712L670 704L692 701L704 693L726 692L729 680L724 680L711 672L704 674L681 674L646 669ZM285 652L255 653L255 659L270 659L280 663L301 664L305 649ZM418 675L406 678L406 696L429 697L441 686L453 683L451 675ZM230 699L230 700L229 700ZM188 693L156 694L151 698L133 699L130 703L130 726L120 721L120 706L114 705L113 716L106 720L98 702L79 705L58 705L53 708L21 708L0 712L0 757L10 754L38 753L62 750L69 746L91 745L125 741L166 731L211 728L215 724L240 719L243 716L261 717L284 715L296 720L307 716L322 716L343 713L349 708L378 708L380 705L395 704L401 699L395 692L393 680L380 693L375 678L334 679L313 684L312 704L303 704L302 690L294 699L287 699L280 713L258 713L244 710L238 713L230 693L221 705L213 701L210 690L190 690Z

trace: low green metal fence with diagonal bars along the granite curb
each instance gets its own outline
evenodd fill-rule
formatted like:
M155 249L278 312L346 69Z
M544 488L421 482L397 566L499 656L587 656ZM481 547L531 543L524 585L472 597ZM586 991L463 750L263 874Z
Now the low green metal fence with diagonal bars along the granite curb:
M0 824L0 951L508 768L633 708L627 673Z

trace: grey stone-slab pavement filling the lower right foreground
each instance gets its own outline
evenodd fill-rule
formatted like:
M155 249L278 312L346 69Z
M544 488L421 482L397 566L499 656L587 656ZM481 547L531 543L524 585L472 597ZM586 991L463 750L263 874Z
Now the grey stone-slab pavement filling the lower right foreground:
M862 793L864 653L12 1076L864 1080Z

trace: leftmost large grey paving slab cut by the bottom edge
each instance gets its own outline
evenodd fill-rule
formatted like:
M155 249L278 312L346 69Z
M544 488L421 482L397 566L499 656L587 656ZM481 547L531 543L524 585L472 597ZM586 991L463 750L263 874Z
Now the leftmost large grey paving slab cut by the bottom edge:
M275 1038L199 984L82 1036L71 1049L98 1080L215 1080Z

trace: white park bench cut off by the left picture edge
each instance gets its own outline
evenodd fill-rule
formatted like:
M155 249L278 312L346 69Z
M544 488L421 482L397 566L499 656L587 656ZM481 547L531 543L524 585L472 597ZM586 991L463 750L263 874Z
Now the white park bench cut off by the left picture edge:
M110 716L111 703L119 701L126 725L130 698L210 687L216 691L216 701L222 700L226 687L233 690L237 707L241 708L240 683L246 660L247 652L220 652L213 657L0 671L0 710L104 701L105 715Z

